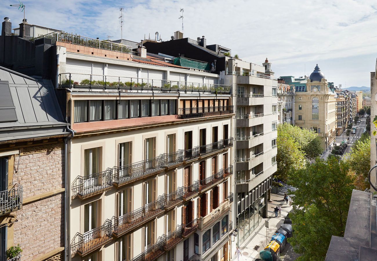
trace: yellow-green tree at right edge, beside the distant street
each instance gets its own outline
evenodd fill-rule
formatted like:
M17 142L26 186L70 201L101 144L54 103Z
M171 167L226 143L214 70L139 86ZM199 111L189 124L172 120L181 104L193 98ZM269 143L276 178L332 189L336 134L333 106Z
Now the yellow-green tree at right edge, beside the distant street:
M369 182L367 178L371 164L371 137L364 133L352 146L351 152L347 156L346 162L356 174L355 186L358 190L368 189Z

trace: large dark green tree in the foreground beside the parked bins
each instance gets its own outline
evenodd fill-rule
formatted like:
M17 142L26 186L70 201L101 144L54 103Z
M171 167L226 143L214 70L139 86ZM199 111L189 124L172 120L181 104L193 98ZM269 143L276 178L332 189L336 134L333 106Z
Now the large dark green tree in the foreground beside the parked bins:
M322 261L331 236L343 236L355 175L344 161L316 159L290 175L294 210L293 237L288 239L298 261Z

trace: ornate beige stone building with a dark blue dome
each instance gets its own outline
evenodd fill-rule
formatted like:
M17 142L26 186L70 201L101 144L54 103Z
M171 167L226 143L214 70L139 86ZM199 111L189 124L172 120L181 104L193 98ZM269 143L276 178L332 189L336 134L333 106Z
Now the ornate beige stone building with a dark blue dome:
M318 64L305 87L296 87L295 96L295 125L314 130L322 141L322 148L327 149L335 142L336 93L328 87Z

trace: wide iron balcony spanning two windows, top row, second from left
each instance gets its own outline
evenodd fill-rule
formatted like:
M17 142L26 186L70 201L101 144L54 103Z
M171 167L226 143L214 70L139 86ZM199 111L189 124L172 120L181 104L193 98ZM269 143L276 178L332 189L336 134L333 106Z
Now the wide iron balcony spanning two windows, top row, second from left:
M169 156L167 156L169 160ZM171 160L178 160L178 158L172 157ZM157 174L165 170L166 157L159 155L155 158L139 161L123 167L114 167L112 181L116 188L132 183L136 180L140 180L148 177L152 174Z

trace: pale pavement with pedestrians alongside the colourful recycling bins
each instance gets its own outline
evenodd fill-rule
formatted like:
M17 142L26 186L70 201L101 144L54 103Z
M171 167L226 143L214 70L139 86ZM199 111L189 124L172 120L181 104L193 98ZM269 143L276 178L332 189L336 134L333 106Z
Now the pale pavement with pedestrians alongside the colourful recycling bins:
M266 244L270 241L271 236L275 233L275 231L280 227L281 224L284 223L284 217L287 215L287 213L292 209L292 207L288 204L285 204L284 198L284 192L287 192L289 190L295 190L291 186L284 186L280 188L279 192L276 192L276 188L271 189L271 200L272 203L268 203L268 218L264 218L262 222L259 224L259 226L252 232L252 235L249 236L244 243L239 246L239 249L241 250L242 256L240 260L255 260L259 258L259 251L263 250ZM281 217L275 217L274 209L271 207L275 207L277 205L280 205L282 207L282 214ZM265 221L268 221L269 228L267 229L267 241L266 242L266 227L264 226ZM286 252L286 249L288 249L288 246L285 247L284 252ZM284 254L284 252L282 254ZM233 256L232 260L237 260L234 253L231 253Z

